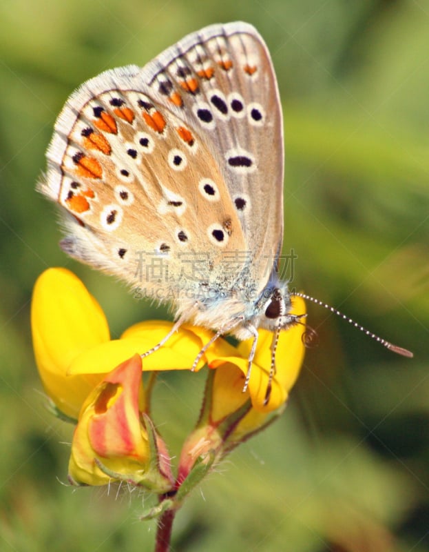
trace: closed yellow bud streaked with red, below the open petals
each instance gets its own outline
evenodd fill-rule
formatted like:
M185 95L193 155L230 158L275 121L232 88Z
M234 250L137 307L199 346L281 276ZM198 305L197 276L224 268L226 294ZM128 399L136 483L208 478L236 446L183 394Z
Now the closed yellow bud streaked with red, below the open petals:
M144 412L142 361L134 355L85 400L74 431L70 481L105 485L126 480L157 493L170 491L174 479L169 456Z

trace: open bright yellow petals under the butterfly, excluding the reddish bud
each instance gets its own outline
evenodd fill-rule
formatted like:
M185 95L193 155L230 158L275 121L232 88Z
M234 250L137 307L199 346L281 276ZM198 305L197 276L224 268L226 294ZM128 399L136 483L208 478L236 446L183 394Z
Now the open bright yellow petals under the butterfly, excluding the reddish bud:
M300 297L293 299L293 313L305 313ZM48 395L67 415L76 417L85 397L106 373L135 353L145 353L158 344L171 327L171 322L140 322L128 328L121 339L110 340L103 311L70 271L50 268L34 286L32 333L37 366ZM248 397L251 397L255 411L261 413L282 406L300 371L304 356L303 333L303 324L280 333L275 355L277 370L268 404L264 404L264 400L273 334L264 330L259 332L246 393L241 391L252 340L234 347L225 339L217 339L197 366L200 370L207 363L219 371L215 380L219 391L216 391L213 416L222 417L222 413L231 412L236 404ZM212 335L204 328L182 326L158 351L143 359L143 370L190 369Z

